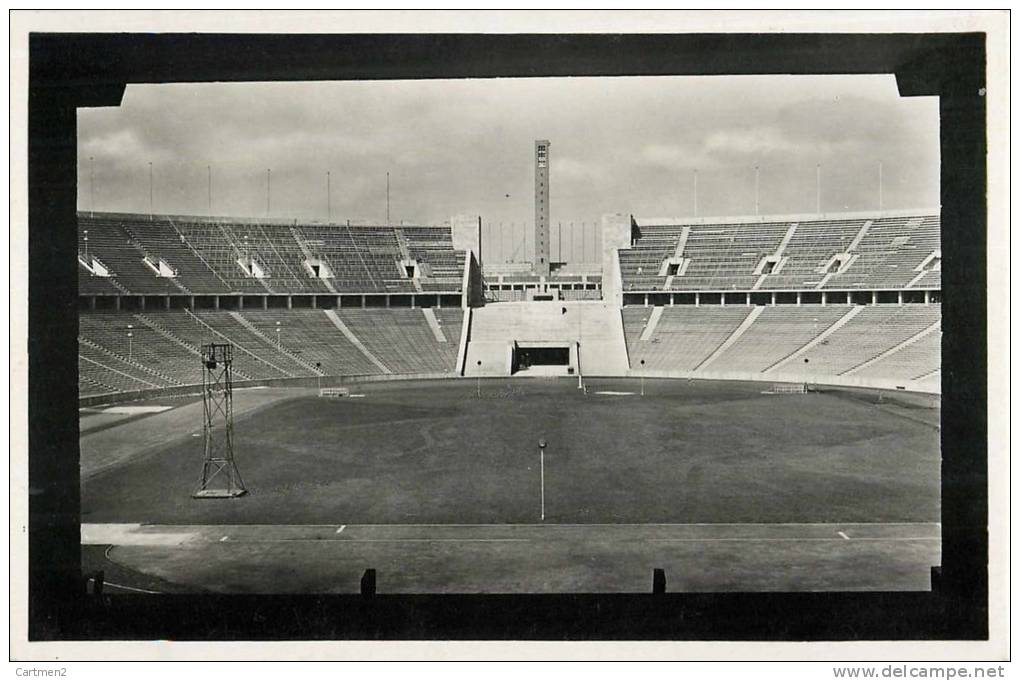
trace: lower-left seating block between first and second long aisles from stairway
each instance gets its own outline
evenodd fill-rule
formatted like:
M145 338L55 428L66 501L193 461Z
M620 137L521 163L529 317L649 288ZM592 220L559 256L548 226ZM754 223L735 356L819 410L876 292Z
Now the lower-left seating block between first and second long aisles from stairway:
M271 339L276 338L276 322L279 322L280 344L308 364L321 364L326 375L381 373L322 310L245 310L243 316Z

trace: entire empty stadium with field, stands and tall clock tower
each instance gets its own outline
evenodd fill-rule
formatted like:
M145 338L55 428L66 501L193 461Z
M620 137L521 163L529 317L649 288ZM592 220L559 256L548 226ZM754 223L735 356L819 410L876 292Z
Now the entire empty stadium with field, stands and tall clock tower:
M156 593L929 589L938 211L564 233L551 147L513 258L476 215L80 211L84 573Z

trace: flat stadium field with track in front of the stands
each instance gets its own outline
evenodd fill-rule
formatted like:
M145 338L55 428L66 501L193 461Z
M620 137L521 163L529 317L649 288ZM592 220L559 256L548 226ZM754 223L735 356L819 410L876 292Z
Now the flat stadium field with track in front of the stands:
M173 408L83 434L86 567L158 590L356 591L366 568L380 592L647 590L655 567L686 590L928 588L936 399L586 383L239 390L249 493L216 501L191 496L201 403L149 401Z

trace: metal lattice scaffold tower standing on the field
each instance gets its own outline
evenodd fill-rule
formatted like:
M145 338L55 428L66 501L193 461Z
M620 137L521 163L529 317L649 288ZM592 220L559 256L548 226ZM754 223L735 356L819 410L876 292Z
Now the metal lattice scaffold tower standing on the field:
M193 494L195 499L232 499L248 491L234 462L233 351L228 343L202 346L205 455L202 484Z

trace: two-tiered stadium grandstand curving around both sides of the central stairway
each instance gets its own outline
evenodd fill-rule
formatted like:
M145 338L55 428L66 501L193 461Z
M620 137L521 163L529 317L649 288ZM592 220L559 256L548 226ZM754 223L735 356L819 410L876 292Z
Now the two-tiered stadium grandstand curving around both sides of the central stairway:
M80 213L80 396L194 386L210 342L235 345L251 383L531 372L940 390L937 214L606 216L602 262L549 274L482 266L480 234L463 217Z

